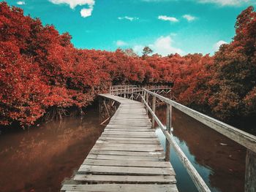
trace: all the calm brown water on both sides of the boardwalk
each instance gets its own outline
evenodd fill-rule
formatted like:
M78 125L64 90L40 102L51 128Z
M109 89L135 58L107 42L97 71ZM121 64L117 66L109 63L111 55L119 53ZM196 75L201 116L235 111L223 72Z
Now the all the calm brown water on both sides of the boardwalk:
M165 123L165 108L159 108L157 114ZM176 142L212 191L243 191L244 147L175 110L173 127ZM64 118L29 131L3 132L0 191L59 191L61 182L78 170L102 129L99 114L91 107L83 118ZM156 131L164 145L162 131ZM197 191L173 150L170 161L178 189Z

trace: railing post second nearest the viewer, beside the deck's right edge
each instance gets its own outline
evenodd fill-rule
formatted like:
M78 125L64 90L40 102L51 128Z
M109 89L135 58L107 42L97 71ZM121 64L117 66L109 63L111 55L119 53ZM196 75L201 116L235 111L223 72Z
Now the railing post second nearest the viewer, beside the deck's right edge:
M172 106L167 104L166 108L166 131L170 134L172 127ZM170 161L170 143L165 139L165 161Z

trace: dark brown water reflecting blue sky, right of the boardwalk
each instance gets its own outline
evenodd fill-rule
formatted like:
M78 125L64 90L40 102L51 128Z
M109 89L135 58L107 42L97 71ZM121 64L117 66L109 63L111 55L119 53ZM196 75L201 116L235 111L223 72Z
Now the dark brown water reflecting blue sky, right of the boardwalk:
M159 107L157 116L165 123L165 107ZM164 145L160 129L157 134ZM173 110L173 136L211 191L244 191L244 147L178 110ZM170 161L177 174L178 189L197 191L173 150Z

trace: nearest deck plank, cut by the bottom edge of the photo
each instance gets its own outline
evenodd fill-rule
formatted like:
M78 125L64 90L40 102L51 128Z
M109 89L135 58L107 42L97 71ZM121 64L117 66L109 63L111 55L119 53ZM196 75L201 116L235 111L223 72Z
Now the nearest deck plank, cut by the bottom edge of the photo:
M148 184L97 184L97 185L63 185L61 191L85 192L177 192L176 185Z

